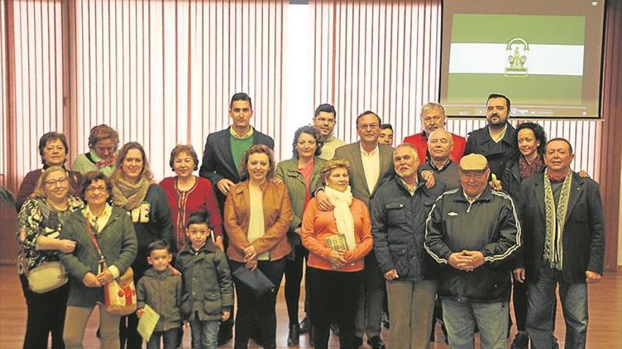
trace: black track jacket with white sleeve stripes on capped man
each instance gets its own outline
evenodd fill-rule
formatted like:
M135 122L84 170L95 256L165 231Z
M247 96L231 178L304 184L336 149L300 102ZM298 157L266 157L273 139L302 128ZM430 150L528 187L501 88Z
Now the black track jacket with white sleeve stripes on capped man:
M462 188L444 192L426 220L426 251L441 264L438 294L467 302L510 299L509 263L521 246L520 222L507 194L488 186L469 204ZM485 262L474 271L447 263L453 252L481 251Z

